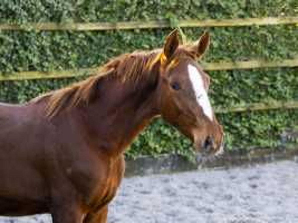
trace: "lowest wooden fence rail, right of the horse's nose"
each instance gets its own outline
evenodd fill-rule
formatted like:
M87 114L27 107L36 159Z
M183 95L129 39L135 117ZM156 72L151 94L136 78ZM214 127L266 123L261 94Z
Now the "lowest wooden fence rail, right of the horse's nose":
M274 109L298 109L298 101L270 101L268 103L250 103L246 105L236 105L229 108L216 108L215 113L248 112Z

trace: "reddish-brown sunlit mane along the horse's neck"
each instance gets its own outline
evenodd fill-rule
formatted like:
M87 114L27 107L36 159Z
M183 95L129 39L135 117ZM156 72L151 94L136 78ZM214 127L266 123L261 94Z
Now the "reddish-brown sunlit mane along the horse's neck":
M94 74L86 80L41 95L31 102L38 103L47 99L46 116L54 117L63 110L89 104L96 96L98 85L104 78L115 78L123 83L131 81L135 85L144 78L147 80L155 78L152 75L150 77L149 71L160 60L160 57L160 50L122 54L97 68Z

